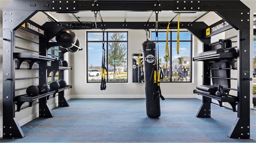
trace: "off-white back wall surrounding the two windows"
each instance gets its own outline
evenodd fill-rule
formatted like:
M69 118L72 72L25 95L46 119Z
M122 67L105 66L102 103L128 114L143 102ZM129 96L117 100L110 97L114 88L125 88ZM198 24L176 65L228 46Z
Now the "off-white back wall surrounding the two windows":
M104 21L123 20L123 18L103 19ZM147 18L129 18L129 22L141 21L142 19L147 20ZM153 17L151 19L154 21ZM192 21L194 19L181 18L180 21ZM81 18L80 20L87 22L94 21L93 18ZM169 21L170 18L159 18L159 21L161 20ZM111 29L107 30L111 31ZM77 38L82 41L81 47L83 51L72 54L72 98L145 98L144 83L132 82L132 54L138 53L138 49L141 49L142 43L146 41L146 32L144 30L128 30L128 82L107 83L106 90L100 90L100 83L86 83L86 31L76 30L75 32ZM195 68L193 73L196 72L197 70ZM194 79L192 83L161 83L162 95L165 98L195 98L196 95L193 94L193 90L196 88L196 80ZM184 87L186 87L186 90L179 90Z

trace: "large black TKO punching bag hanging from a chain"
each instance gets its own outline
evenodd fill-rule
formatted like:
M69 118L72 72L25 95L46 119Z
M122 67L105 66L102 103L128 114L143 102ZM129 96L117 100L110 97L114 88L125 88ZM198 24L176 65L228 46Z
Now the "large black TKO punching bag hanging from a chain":
M153 99L153 92L157 88L157 84L151 81L152 69L156 64L156 45L152 41L145 41L142 43L142 54L144 61L144 80L146 93L146 110L149 118L158 118L160 116L160 99ZM153 71L154 72L154 71ZM153 75L152 75L153 76ZM154 76L153 76L154 80Z

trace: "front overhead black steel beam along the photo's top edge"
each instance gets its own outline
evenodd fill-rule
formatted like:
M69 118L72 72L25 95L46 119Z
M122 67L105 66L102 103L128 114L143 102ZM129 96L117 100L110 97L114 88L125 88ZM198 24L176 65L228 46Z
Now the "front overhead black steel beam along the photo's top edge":
M14 0L4 10L38 10L61 13L126 10L180 12L242 10L239 0Z

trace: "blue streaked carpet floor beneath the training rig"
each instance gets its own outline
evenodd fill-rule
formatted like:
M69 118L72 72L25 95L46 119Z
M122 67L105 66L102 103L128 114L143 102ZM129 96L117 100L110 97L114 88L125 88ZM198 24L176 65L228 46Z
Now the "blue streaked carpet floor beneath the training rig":
M52 110L54 118L23 125L22 139L0 142L256 142L256 110L250 110L250 137L227 137L236 112L211 105L212 118L196 118L198 99L160 101L161 116L146 116L145 99L71 99Z

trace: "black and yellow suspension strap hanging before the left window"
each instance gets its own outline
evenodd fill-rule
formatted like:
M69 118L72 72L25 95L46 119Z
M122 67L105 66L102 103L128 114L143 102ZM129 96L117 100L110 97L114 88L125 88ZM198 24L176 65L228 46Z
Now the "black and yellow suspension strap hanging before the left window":
M104 31L105 29L102 29L102 66L101 66L101 84L100 84L100 90L105 90L106 89L106 71L107 68L105 66L105 41L104 41Z

